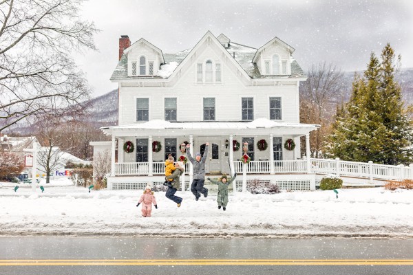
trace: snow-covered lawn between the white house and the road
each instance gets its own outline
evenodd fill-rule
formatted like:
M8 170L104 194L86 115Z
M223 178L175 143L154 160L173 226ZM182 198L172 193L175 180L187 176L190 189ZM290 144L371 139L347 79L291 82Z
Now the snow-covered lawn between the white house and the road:
M158 209L141 217L141 190L101 190L68 181L31 188L0 184L0 234L126 234L162 236L377 236L413 237L413 190L383 188L237 193L226 211L216 195L195 201L177 192L182 206L156 192ZM52 187L54 186L54 187Z

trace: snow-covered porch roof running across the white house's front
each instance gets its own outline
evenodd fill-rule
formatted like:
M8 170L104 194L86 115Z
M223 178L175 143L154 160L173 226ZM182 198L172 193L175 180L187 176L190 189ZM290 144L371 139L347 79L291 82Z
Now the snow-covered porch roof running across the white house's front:
M273 129L288 129L297 135L308 133L317 129L317 124L302 124L302 123L290 123L290 122L277 122L274 120L268 120L266 118L259 118L251 122L169 122L165 120L151 120L143 123L119 125L119 126L105 126L102 129L105 133L112 132L122 133L122 131L128 132L139 130L142 135L145 135L148 131L158 131L159 134L168 135L170 131L180 131L179 133L198 133L203 132L204 135L219 135L220 133L243 133L245 131L255 131L260 129L270 132ZM296 131L294 132L293 129ZM163 130L163 131L162 131ZM130 132L131 132L130 131ZM177 132L174 132L177 133ZM286 132L287 133L287 132Z

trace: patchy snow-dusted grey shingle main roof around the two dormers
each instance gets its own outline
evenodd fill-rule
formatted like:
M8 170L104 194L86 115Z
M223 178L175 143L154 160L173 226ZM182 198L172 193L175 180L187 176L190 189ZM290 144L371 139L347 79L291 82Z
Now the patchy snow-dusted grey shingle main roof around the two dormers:
M225 39L228 39L224 34L220 34L221 39L224 37ZM277 39L277 38L275 38ZM229 40L229 39L228 39ZM273 40L271 40L268 43L271 43ZM290 47L288 44L284 43L280 39L277 39L279 43L282 43L282 45L285 45L285 47L288 47L291 52L294 51L293 47ZM266 43L266 45L268 44ZM265 47L260 47L262 50ZM259 50L260 50L259 49ZM184 50L182 52L177 52L175 54L163 54L163 58L165 60L165 65L162 65L160 68L160 71L158 72L157 76L127 76L127 55L123 54L123 56L120 58L120 61L118 62L118 65L116 66L116 69L114 70L111 80L122 80L122 79L127 79L127 78L138 78L138 79L153 79L153 78L168 78L174 69L180 65L180 63L184 60L185 57L191 52L191 49ZM242 67L242 69L245 70L245 72L250 76L251 78L275 78L275 76L263 76L260 72L260 69L258 69L257 65L255 62L253 62L254 56L257 56L257 49L254 47L249 47L246 45L242 45L239 43L235 43L231 41L229 43L229 47L226 47L225 50L233 56L235 61L239 63ZM160 51L162 52L162 51ZM291 57L292 58L292 57ZM276 76L279 78L280 76ZM305 77L304 71L299 67L297 61L295 61L294 58L291 59L291 74L288 76L282 76L282 78L302 78Z

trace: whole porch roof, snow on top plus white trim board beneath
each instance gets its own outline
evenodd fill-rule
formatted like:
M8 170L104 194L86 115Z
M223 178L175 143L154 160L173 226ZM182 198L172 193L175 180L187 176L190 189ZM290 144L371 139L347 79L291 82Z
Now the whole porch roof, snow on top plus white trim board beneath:
M114 136L182 136L182 135L306 135L319 128L318 124L276 122L265 118L251 122L169 122L151 120L122 126L100 128L106 135Z

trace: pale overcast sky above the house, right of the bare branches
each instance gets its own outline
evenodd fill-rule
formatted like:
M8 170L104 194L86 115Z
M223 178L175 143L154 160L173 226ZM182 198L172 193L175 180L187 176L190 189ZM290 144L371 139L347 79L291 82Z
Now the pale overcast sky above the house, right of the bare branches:
M366 68L370 52L390 43L413 67L412 0L89 0L83 17L101 30L99 52L76 56L93 96L118 87L109 78L118 63L118 39L141 37L164 53L193 47L210 30L236 43L261 47L274 36L295 47L306 70L322 61L343 71Z

